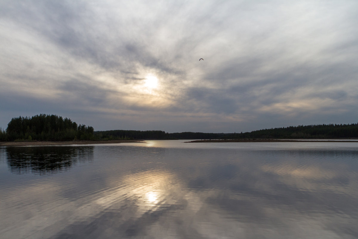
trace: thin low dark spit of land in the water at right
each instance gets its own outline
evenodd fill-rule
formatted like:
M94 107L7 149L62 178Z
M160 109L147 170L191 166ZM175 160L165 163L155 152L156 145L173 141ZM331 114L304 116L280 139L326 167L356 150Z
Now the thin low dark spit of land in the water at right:
M185 143L230 143L230 142L347 142L347 143L358 143L358 140L333 140L333 139L202 139L202 140L193 140Z

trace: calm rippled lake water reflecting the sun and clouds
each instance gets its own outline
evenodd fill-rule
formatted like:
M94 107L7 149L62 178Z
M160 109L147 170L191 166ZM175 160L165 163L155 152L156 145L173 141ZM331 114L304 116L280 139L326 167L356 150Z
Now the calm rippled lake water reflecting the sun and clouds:
M1 238L358 238L358 143L0 147Z

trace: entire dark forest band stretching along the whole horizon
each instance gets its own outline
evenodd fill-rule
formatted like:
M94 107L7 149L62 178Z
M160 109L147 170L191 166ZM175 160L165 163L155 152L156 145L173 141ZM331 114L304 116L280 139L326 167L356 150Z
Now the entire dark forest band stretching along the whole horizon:
M299 125L245 133L168 133L161 130L106 130L77 124L57 115L40 114L11 119L0 128L0 141L71 141L127 139L349 139L358 138L357 124Z

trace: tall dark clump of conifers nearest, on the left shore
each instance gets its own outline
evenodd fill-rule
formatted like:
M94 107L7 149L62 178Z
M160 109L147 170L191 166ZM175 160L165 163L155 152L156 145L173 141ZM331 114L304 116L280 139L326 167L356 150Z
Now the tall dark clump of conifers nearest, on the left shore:
M94 129L61 116L40 114L32 117L12 118L6 132L0 131L2 141L69 141L92 140Z

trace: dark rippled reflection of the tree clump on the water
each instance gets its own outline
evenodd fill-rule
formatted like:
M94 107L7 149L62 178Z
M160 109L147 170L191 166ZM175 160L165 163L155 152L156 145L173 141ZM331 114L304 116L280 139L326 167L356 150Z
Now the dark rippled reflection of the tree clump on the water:
M92 161L93 146L6 147L6 157L11 173L58 173Z

